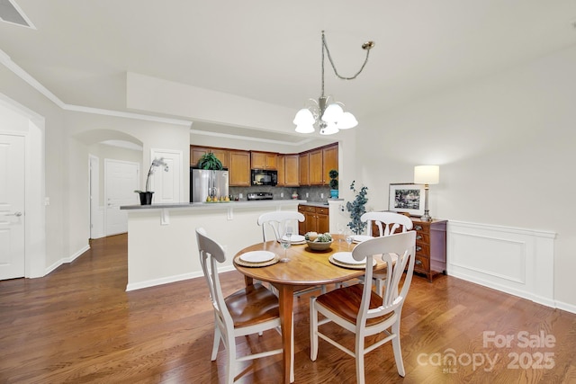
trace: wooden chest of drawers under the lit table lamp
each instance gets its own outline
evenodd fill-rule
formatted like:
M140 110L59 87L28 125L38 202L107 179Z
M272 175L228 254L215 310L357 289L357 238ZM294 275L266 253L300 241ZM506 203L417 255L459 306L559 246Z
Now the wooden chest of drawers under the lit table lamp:
M446 274L446 220L420 221L410 218L416 234L414 272L425 274L432 281L439 273Z

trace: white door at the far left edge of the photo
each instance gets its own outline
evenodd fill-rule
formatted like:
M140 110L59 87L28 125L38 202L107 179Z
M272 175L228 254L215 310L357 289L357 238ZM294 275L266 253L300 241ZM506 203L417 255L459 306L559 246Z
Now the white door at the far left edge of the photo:
M0 280L24 276L24 137L0 135Z

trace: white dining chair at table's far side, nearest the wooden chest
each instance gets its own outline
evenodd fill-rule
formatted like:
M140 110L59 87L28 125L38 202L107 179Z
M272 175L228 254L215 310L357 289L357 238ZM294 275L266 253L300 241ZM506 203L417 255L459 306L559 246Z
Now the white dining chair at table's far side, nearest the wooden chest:
M368 223L368 235L383 237L389 236L397 232L407 232L412 229L412 220L408 216L401 215L395 212L366 212L360 217L360 220ZM373 224L378 228L378 234L373 232ZM380 296L383 295L385 276L382 273L376 272L373 275L373 280L376 285L376 292Z

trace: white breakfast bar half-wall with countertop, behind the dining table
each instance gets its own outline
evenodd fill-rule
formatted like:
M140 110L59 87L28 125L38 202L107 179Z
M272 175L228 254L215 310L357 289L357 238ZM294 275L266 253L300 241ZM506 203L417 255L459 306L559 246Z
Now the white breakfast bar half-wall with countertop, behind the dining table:
M128 284L139 290L202 276L195 229L202 227L232 256L262 241L258 217L272 210L298 210L303 200L166 203L121 207L128 213Z

